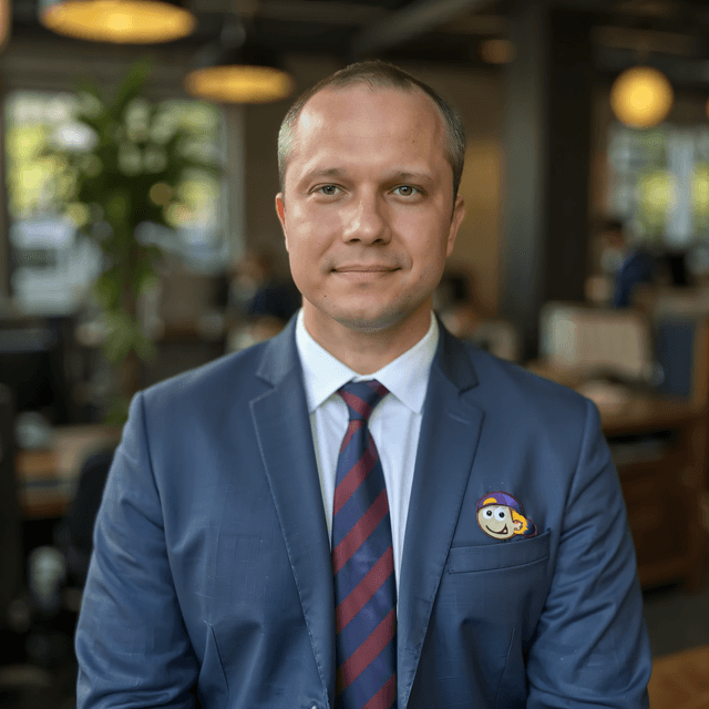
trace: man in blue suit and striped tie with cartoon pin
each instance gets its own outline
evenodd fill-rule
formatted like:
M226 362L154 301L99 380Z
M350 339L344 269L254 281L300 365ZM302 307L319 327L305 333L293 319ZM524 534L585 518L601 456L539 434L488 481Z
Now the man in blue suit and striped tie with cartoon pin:
M308 92L276 198L298 316L138 394L95 530L79 707L647 706L595 407L431 297L458 116L380 62Z

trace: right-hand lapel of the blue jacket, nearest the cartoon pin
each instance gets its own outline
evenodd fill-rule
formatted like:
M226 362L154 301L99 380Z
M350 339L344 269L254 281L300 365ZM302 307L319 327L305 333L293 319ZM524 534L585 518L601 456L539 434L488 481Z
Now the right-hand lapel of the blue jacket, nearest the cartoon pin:
M423 409L399 580L399 706L415 677L431 609L473 465L483 412L465 401L477 383L464 346L441 326Z

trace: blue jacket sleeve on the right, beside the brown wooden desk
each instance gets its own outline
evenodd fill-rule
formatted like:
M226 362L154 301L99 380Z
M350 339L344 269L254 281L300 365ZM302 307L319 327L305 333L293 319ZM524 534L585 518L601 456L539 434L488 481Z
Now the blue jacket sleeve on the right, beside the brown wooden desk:
M650 669L620 484L586 401L553 582L527 657L527 709L647 708Z

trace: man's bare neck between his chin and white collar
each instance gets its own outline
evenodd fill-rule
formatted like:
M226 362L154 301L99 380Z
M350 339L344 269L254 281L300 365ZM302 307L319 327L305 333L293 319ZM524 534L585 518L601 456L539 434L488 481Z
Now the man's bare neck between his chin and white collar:
M422 309L405 322L378 331L362 331L329 320L327 327L306 307L304 300L302 321L306 330L322 349L327 350L358 374L379 371L419 342L431 327L431 307Z

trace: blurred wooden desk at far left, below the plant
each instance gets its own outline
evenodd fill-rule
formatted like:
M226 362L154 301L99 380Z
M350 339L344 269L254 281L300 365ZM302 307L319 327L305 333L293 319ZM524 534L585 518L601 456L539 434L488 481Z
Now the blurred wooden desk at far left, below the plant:
M16 474L24 518L62 516L73 499L82 462L91 453L117 444L120 436L120 427L60 427L49 450L18 451Z

